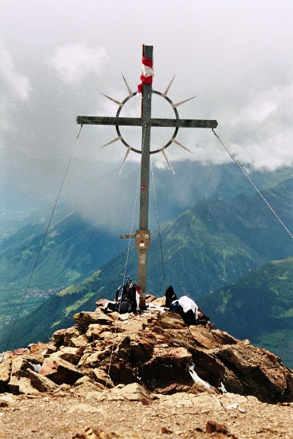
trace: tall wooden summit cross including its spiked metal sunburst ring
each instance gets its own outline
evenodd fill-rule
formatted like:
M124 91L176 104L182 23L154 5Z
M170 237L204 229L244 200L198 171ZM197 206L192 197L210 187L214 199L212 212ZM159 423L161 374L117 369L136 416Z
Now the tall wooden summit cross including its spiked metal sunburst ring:
M149 60L153 59L153 47L143 45L143 57ZM172 83L172 82L171 82ZM127 85L127 84L126 84ZM171 84L169 84L170 86ZM162 152L165 156L165 148L171 143L176 143L180 147L185 148L178 141L175 140L178 128L216 128L218 122L215 120L203 120L203 119L179 119L176 106L183 104L189 99L178 104L173 104L173 102L166 96L169 86L165 93L159 93L158 91L153 91L152 84L143 82L142 96L141 96L141 117L119 117L119 112L124 106L124 104L136 93L132 93L128 87L130 96L124 99L124 102L117 102L115 99L109 98L119 105L119 110L117 111L116 117L93 117L93 116L78 116L76 121L79 124L90 124L90 125L114 125L116 126L116 131L119 134L117 139L110 141L108 144L114 141L121 140L124 145L128 147L126 152L126 157L130 150L138 152L141 154L141 192L140 192L140 212L139 212L139 230L137 230L136 235L131 235L136 237L136 246L139 249L139 267L138 267L138 283L141 289L140 298L140 308L145 309L145 294L146 294L146 277L147 277L147 251L150 244L150 232L148 231L148 206L149 206L149 184L150 184L150 154L155 154L156 152ZM176 119L152 119L152 93L161 95L169 104L174 108ZM107 96L108 97L108 96ZM142 138L141 138L141 151L135 150L130 147L126 141L121 137L119 132L119 126L141 126L142 128ZM174 135L172 139L159 150L150 151L150 131L152 127L173 127L175 128ZM106 145L104 145L106 146ZM167 157L165 156L167 159ZM124 161L126 158L124 159ZM169 163L169 162L168 162ZM124 237L130 235L124 235Z

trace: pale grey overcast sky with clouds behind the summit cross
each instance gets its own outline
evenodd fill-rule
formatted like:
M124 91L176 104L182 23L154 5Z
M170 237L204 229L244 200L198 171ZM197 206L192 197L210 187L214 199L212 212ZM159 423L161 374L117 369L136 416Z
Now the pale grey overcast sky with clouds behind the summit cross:
M137 90L141 46L154 46L153 88L178 107L180 117L217 119L216 132L239 163L276 169L293 161L293 2L291 0L1 0L1 209L56 198L80 126L78 115L114 116ZM161 99L161 100L160 100ZM153 115L172 117L154 96ZM139 117L140 97L124 115ZM121 130L139 147L139 128ZM152 132L152 149L172 135ZM114 143L115 127L84 126L62 197L100 225L119 222L133 200L139 154ZM211 130L181 129L167 156L178 161L230 161ZM155 168L166 168L162 154ZM176 174L174 176L176 178ZM188 177L187 177L188 178ZM207 176L209 178L209 176ZM132 192L130 191L132 188ZM184 189L183 189L184 190ZM180 191L178 191L180 193ZM132 202L129 204L132 204ZM30 204L31 205L31 204ZM97 214L97 211L99 214ZM115 215L113 213L115 212Z

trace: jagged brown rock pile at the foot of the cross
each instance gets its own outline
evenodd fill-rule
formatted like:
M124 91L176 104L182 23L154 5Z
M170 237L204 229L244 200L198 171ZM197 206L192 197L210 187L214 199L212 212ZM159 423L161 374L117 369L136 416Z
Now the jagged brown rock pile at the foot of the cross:
M248 340L191 326L152 301L141 314L75 314L75 325L57 331L47 344L6 353L0 391L13 394L102 392L120 385L143 386L151 394L251 395L268 403L293 401L293 371ZM137 387L136 387L137 388ZM119 390L120 389L120 390Z

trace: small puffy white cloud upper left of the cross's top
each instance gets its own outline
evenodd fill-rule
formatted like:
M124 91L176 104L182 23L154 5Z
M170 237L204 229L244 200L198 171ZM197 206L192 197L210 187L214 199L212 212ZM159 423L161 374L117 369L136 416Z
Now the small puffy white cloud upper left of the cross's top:
M88 73L99 76L107 61L104 47L91 49L84 43L60 46L54 56L48 58L49 66L56 69L67 84L80 82Z

